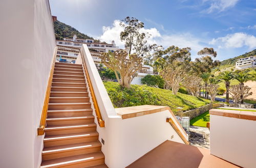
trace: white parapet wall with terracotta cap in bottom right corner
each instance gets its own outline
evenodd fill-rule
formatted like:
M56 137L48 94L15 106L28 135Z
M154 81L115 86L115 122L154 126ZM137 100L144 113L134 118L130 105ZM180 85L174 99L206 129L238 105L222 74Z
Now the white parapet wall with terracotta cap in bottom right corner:
M210 110L210 153L233 164L256 166L256 112Z

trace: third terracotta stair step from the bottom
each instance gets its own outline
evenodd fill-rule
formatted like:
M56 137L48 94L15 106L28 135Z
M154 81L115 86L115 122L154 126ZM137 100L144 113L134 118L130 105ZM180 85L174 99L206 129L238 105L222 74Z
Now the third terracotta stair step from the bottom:
M96 131L45 136L44 147L53 147L53 146L60 146L60 145L98 141L98 136L99 136L99 133Z

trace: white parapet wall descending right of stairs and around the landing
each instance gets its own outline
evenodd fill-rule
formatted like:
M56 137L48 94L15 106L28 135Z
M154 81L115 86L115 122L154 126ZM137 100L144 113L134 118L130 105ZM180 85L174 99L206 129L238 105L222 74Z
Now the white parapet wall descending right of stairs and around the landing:
M104 141L102 152L105 155L106 165L111 168L125 167L167 139L184 144L176 130L166 122L166 118L172 118L183 136L188 138L170 110L159 110L158 113L126 119L117 114L86 45L81 47L76 64L81 64L81 57L86 62L101 115L105 121L103 128L97 124L97 131L99 141L101 143L102 139ZM95 111L93 113L95 115ZM98 123L96 118L95 123Z

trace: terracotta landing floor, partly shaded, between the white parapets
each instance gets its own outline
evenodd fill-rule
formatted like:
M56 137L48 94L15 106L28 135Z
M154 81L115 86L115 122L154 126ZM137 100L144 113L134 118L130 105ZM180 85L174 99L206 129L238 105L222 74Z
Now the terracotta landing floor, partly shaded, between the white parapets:
M165 167L238 167L216 156L210 155L208 149L184 145L172 141L165 141L152 151L148 152L129 166L146 168Z

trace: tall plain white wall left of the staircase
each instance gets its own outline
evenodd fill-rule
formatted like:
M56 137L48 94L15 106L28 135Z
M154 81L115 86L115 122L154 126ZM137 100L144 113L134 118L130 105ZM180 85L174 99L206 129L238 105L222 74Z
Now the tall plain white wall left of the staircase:
M0 14L0 167L39 167L37 127L56 47L49 2L3 0Z

